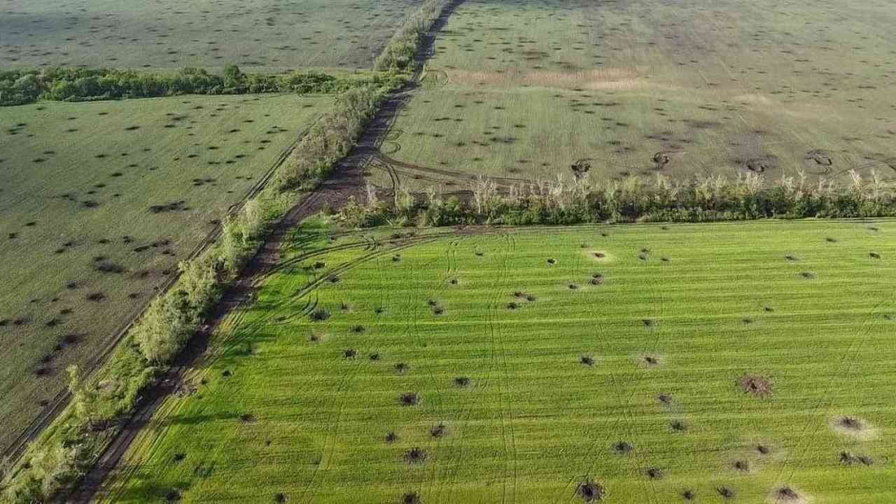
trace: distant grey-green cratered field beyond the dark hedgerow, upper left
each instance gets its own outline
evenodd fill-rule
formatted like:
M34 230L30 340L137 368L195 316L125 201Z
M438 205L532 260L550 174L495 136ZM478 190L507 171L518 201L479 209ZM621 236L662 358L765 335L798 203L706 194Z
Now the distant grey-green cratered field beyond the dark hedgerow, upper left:
M0 68L368 68L418 0L9 0Z

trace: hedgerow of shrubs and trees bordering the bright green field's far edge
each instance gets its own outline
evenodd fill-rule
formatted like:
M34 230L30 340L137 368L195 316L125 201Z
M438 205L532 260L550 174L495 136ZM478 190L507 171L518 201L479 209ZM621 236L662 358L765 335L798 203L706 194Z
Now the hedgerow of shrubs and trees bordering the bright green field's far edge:
M807 183L806 177L766 180L754 173L676 181L631 176L606 184L588 178L556 178L498 187L478 178L469 196L445 198L435 189L415 204L346 208L344 220L357 225L383 222L456 224L571 224L580 222L711 222L806 217L896 215L896 191L876 173L850 172L849 185Z

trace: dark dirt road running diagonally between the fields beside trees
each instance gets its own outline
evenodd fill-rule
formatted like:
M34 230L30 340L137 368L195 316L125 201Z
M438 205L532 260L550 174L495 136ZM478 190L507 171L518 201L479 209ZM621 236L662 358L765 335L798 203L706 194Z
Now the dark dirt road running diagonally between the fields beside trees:
M401 109L407 105L412 92L417 89L426 59L433 54L436 35L448 22L454 9L463 1L453 0L445 7L418 48L415 72L410 82L400 90L392 92L392 95L377 111L364 134L361 135L357 146L334 169L332 177L323 181L314 189L313 193L306 196L278 222L258 253L246 266L245 272L225 293L214 315L207 324L202 326L184 351L177 356L165 377L143 393L134 414L125 421L124 426L116 434L106 451L65 502L88 504L101 495L104 483L108 482L109 477L115 474L117 466L124 458L131 443L134 442L142 428L151 421L168 395L177 390L187 371L197 363L208 346L211 334L214 333L220 322L229 313L254 298L260 280L280 261L280 248L289 236L289 231L295 229L306 217L314 215L326 207L339 208L349 200L350 196L362 195L364 173L368 163L374 158L372 153L378 152Z

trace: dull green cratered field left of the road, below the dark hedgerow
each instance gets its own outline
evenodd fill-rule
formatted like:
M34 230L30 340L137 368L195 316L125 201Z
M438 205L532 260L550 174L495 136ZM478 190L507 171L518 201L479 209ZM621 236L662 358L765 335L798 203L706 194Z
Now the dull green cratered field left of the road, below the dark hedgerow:
M0 116L0 447L332 102L47 102Z

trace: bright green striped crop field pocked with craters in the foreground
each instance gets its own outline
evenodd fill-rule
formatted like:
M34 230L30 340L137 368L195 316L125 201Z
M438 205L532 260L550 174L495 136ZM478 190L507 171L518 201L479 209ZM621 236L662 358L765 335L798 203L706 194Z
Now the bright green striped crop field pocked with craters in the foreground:
M892 501L896 222L307 223L106 501Z

